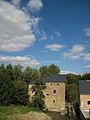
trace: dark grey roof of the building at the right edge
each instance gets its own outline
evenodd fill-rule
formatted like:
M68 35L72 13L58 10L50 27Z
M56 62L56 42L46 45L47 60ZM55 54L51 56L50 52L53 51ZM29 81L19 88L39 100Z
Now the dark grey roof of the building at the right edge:
M90 80L80 80L79 81L79 93L80 94L90 94Z

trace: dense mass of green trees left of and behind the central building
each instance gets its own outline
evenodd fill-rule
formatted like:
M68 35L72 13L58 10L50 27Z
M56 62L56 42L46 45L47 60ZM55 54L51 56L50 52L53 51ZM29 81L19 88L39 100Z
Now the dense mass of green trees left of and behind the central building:
M29 66L23 68L21 65L5 66L0 65L0 105L28 105L38 109L43 109L44 95L42 90L45 89L43 78L50 74L59 74L58 66L52 64L43 66L39 70L32 69ZM32 101L29 100L28 84L33 82L33 92L35 93Z

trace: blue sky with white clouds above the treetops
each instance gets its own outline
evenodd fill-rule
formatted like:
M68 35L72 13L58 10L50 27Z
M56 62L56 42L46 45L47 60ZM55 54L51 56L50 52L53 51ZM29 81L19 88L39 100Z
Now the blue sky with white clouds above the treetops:
M0 0L0 63L90 72L90 0Z

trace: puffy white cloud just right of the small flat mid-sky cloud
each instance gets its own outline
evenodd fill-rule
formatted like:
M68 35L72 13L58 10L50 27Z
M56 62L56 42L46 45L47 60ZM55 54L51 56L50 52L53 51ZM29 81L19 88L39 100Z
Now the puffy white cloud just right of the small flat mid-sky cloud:
M74 45L68 52L64 53L64 57L69 59L80 59L84 55L85 47L81 44Z

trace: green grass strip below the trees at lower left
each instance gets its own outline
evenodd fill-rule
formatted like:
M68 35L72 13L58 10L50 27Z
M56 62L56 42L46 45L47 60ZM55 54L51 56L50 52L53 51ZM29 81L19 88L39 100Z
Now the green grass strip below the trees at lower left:
M0 106L0 120L9 120L9 116L28 114L32 111L39 112L38 109L28 106Z

